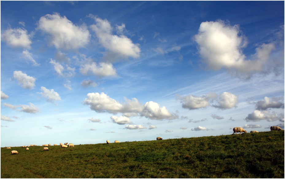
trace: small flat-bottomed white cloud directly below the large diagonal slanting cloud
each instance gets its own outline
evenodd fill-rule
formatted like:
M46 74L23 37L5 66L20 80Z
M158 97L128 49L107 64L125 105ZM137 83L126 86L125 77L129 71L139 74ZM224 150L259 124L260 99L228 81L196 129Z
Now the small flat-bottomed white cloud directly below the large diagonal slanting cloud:
M95 75L99 77L117 76L116 69L111 63L101 62L99 65L96 62L86 63L81 65L80 72L87 75Z

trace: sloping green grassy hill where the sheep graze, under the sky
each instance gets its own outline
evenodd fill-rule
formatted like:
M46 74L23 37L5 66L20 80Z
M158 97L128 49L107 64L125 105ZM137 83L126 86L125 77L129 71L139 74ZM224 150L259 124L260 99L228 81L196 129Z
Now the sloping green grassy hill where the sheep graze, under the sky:
M284 178L284 130L48 148L1 148L1 178Z

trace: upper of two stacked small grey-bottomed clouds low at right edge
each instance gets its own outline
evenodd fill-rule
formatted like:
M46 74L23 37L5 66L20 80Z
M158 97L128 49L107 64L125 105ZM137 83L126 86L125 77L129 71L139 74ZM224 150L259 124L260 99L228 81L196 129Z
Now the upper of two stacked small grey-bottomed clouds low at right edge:
M264 97L263 101L256 102L256 110L266 110L268 108L284 108L284 103L278 98Z

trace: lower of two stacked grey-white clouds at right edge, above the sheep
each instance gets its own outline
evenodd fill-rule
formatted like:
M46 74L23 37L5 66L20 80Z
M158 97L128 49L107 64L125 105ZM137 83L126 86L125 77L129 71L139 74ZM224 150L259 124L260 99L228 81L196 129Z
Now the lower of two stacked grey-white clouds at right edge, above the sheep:
M274 111L270 114L269 111L260 111L260 110L254 110L252 113L248 114L247 117L245 117L245 121L261 121L261 120L267 120L267 121L277 121L277 120L284 120L284 113L280 113L279 115L275 113Z

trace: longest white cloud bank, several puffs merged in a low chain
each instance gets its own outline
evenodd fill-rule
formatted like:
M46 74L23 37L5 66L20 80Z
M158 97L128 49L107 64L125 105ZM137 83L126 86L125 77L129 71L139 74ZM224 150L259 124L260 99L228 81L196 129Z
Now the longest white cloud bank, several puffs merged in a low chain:
M124 98L125 103L120 103L110 98L105 93L88 93L87 98L84 99L84 104L89 105L90 108L98 113L123 113L123 114L139 114L140 116L149 119L163 120L176 119L176 114L171 114L165 106L160 107L156 102L149 101L142 105L136 98L132 100Z

